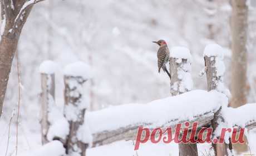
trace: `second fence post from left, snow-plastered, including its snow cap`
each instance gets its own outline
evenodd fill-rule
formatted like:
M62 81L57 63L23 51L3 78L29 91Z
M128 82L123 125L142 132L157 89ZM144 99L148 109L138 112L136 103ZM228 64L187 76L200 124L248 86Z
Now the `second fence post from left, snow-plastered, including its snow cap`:
M85 101L85 95L83 94L83 84L88 80L90 71L86 64L77 62L66 66L64 72L64 115L70 124L70 133L66 144L67 153L85 156L88 143L83 141L82 133L85 133L83 122L88 103Z

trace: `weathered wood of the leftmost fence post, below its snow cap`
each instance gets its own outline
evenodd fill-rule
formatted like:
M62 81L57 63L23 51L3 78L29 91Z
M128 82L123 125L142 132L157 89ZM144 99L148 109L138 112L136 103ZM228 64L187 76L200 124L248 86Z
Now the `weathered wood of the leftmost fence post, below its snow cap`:
M50 128L48 108L55 100L55 74L41 73L41 135L42 144L48 143L47 133Z

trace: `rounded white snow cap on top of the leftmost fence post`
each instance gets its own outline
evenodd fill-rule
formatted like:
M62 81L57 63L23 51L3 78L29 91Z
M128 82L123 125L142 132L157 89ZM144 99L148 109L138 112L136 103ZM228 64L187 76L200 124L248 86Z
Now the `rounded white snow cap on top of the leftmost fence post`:
M57 70L57 64L51 60L45 60L41 63L39 70L43 74L54 74Z

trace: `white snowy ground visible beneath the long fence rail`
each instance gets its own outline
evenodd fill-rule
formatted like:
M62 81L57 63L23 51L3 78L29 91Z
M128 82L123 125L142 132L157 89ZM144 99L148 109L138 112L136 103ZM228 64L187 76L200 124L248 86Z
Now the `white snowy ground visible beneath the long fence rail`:
M210 150L211 144L197 144L198 154L214 155L213 150ZM179 155L178 144L169 143L165 144L162 141L153 144L151 142L143 143L140 145L139 150L134 150L134 142L132 141L119 141L100 147L89 148L86 150L88 156L176 156Z

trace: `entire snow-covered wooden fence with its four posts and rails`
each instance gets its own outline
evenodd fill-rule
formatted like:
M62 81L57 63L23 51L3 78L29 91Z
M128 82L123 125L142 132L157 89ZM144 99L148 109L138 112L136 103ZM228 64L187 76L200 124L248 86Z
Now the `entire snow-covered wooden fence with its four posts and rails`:
M184 100L184 96L189 95L193 89L193 81L191 78L191 55L188 49L182 47L172 48L170 55L170 99L175 101ZM77 153L78 155L84 156L86 155L86 148L96 147L99 145L105 145L116 141L121 140L132 140L135 139L137 128L140 126L146 126L150 128L156 127L172 127L175 129L176 124L184 123L188 121L198 122L199 129L203 127L213 127L215 131L218 128L218 125L221 122L226 123L224 117L222 116L223 107L227 107L220 105L218 103L219 95L224 97L230 96L229 91L225 89L223 85L223 75L224 75L224 63L223 63L223 50L219 45L209 45L205 48L204 51L204 60L205 60L205 68L202 72L202 75L205 73L207 78L208 91L216 90L219 94L215 92L206 92L206 91L198 91L200 93L205 93L205 95L209 95L208 101L205 102L204 105L208 105L210 102L216 102L214 107L209 107L207 111L200 112L200 106L197 108L197 113L190 117L169 117L162 123L156 123L157 119L161 119L159 115L152 115L154 119L140 119L147 118L146 115L142 115L140 111L134 110L147 110L147 108L154 107L154 102L145 104L145 105L132 105L132 106L116 106L111 108L106 108L104 110L95 111L95 112L87 112L87 104L84 102L85 95L83 95L83 84L88 80L88 71L87 70L77 70L81 68L88 68L85 64L75 63L69 65L65 69L64 76L64 96L65 96L65 108L62 115L59 115L62 119L62 122L52 123L52 119L49 119L49 113L51 113L51 107L54 104L55 100L55 74L54 72L45 72L41 71L41 106L42 106L42 118L41 118L41 126L42 126L42 144L47 142L51 142L52 140L58 140L62 142L63 147L66 149L66 153L73 154ZM52 66L52 62L47 63L46 66ZM50 65L49 65L50 64ZM72 71L74 70L74 71ZM47 71L47 70L46 70ZM86 75L87 74L87 75ZM167 76L166 76L167 77ZM185 93L188 92L188 93ZM182 94L181 94L182 93ZM180 95L181 94L181 95ZM177 96L179 95L179 96ZM216 95L216 96L215 96ZM218 95L218 96L217 96ZM186 98L186 97L185 97ZM195 100L195 103L198 101L202 103L200 98L191 98L188 97L189 100ZM217 99L217 100L216 100ZM180 111L181 114L185 114L186 109L179 110L176 107L176 103L169 103L168 100L159 100L155 103L162 103L163 107L161 111ZM214 103L213 103L214 104ZM226 102L228 104L228 101ZM171 106L173 105L173 106ZM179 103L180 107L183 106L182 103ZM201 104L200 104L201 105ZM186 107L186 105L184 105ZM197 107L197 106L194 106ZM118 109L116 109L118 108ZM131 109L130 109L131 108ZM122 118L120 116L119 110L127 110L127 117L129 118L129 109L132 111L132 116L137 116L136 119L125 119L126 121L120 121L120 124L115 124L115 118ZM175 110L176 109L176 110ZM146 111L144 113L147 113ZM250 112L243 112L250 113ZM123 115L125 116L125 115ZM104 119L109 118L109 119ZM60 119L60 121L61 121ZM102 119L102 121L101 121ZM114 120L111 120L114 119ZM245 128L248 130L256 127L256 115L252 115L251 118L245 121ZM66 121L63 121L66 120ZM93 120L93 121L92 121ZM122 119L121 119L122 120ZM109 126L107 125L109 121ZM221 121L221 122L220 122ZM91 122L91 124L89 124ZM235 118L234 122L235 123ZM54 124L58 124L57 129L61 132L51 131L49 134L51 127L54 127ZM86 125L86 126L85 126ZM114 125L114 126L111 126ZM190 124L191 125L191 124ZM239 124L233 125L234 127L241 128L242 126ZM90 131L86 131L84 127L88 127L91 129ZM67 131L62 132L63 129L67 128ZM192 127L190 126L189 129ZM53 132L53 133L52 133ZM81 134L82 133L82 134ZM90 133L90 134L87 134ZM83 137L79 137L79 136ZM51 136L51 137L49 137ZM91 139L88 139L90 138ZM219 136L215 136L219 137ZM227 144L213 144L215 155L232 155L232 145ZM196 144L179 144L180 156L185 155L198 155L198 149ZM57 155L56 155L57 156Z

